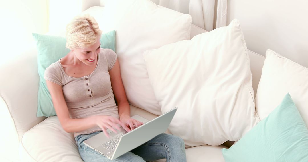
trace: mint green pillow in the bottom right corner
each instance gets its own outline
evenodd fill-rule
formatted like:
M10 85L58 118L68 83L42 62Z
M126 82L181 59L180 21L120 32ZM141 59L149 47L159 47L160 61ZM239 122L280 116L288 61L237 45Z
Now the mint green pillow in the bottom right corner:
M226 162L308 161L308 130L288 93L235 145L221 151Z

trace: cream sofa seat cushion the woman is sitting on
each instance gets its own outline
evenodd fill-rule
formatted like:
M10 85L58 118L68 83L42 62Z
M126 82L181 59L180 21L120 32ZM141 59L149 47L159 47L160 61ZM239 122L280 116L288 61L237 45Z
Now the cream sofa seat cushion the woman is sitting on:
M157 115L131 106L131 116L138 114L148 120ZM169 133L168 130L165 133ZM187 161L221 161L221 149L225 146L196 146L186 149ZM63 130L58 116L52 116L23 134L19 153L22 161L75 161L82 162L73 133ZM156 160L164 162L165 159Z

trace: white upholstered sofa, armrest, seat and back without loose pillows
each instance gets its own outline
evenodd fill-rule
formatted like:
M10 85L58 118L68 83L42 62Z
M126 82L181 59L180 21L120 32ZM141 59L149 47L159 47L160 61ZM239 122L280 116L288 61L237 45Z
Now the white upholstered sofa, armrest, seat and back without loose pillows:
M102 11L103 7L91 7L84 13ZM190 37L205 30L192 25ZM60 33L60 35L63 33ZM0 107L1 142L0 161L82 161L73 133L66 133L57 116L36 117L39 89L37 52L34 42L28 49L18 50L18 57L1 65ZM249 51L253 89L261 76L264 56ZM148 120L157 115L131 106L131 115L139 114ZM196 146L186 149L187 161L224 161L220 146ZM165 161L165 160L159 160Z

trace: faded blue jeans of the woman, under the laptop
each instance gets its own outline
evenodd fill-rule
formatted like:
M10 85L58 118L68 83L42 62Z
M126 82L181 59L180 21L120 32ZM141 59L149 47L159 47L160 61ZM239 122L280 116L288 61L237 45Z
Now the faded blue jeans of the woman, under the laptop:
M83 161L111 161L107 157L99 154L93 149L87 147L83 144L83 141L100 133L101 131L81 134L75 137L75 141L78 146L79 154ZM150 141L138 146L136 149L131 150L123 154L122 156L112 160L112 161L154 161L159 159L167 159L167 162L185 162L185 145L184 141L180 137L176 137L171 134L161 133L156 137L152 138Z

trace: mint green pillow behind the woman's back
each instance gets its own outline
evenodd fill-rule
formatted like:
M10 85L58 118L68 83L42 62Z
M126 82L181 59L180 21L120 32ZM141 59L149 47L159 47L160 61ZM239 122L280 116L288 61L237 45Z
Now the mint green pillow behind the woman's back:
M64 37L37 33L32 33L32 36L36 42L36 49L38 51L38 71L40 77L38 111L36 116L49 117L57 115L44 79L44 72L49 65L64 57L68 52L70 52L70 50L65 48L66 39ZM115 30L102 33L100 43L101 48L110 48L115 51Z

